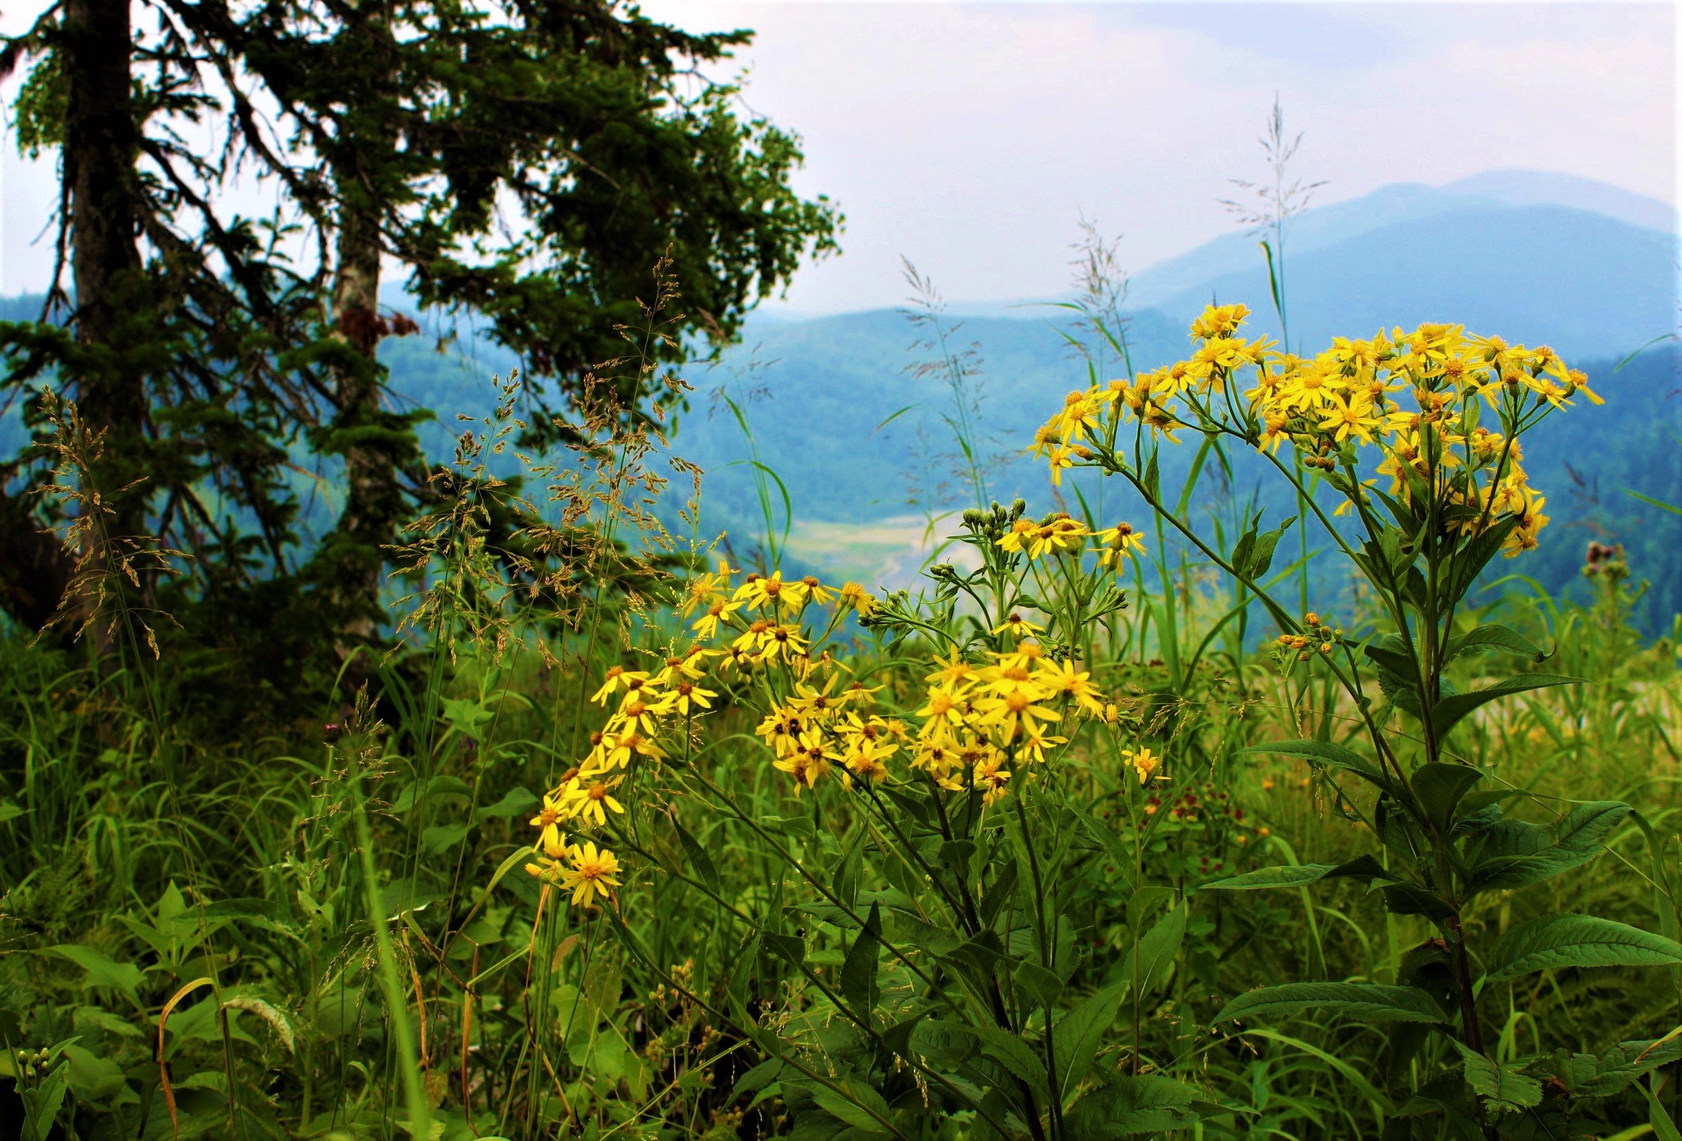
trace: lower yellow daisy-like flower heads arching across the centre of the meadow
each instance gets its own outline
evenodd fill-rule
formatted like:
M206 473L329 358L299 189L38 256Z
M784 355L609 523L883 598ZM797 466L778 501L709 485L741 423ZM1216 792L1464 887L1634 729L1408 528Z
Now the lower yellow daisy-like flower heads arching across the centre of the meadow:
M1142 550L1125 523L1090 532L1066 515L1013 528L999 545L1034 557L1036 542L1045 544L1039 554L1093 542L1105 565ZM1092 673L1048 655L1039 626L1021 614L992 631L1008 636L1008 650L971 658L954 650L950 658L935 658L908 700L883 695L886 685L849 675L822 650L849 616L876 611L861 587L780 574L750 574L735 584L735 574L720 564L678 599L674 611L698 636L695 645L659 668L607 670L590 698L607 715L590 735L589 754L532 818L538 831L526 870L570 892L575 905L612 899L619 887L621 865L606 841L629 815L621 801L626 784L646 788L636 783L637 767L683 762L696 740L695 722L727 703L757 710L755 734L796 796L824 777L861 791L898 777L950 793L977 791L989 806L1008 796L1013 771L1055 757L1068 742L1058 730L1073 735L1078 719L1122 722L1117 702L1103 697ZM1140 784L1161 766L1150 749L1127 751L1122 759Z

